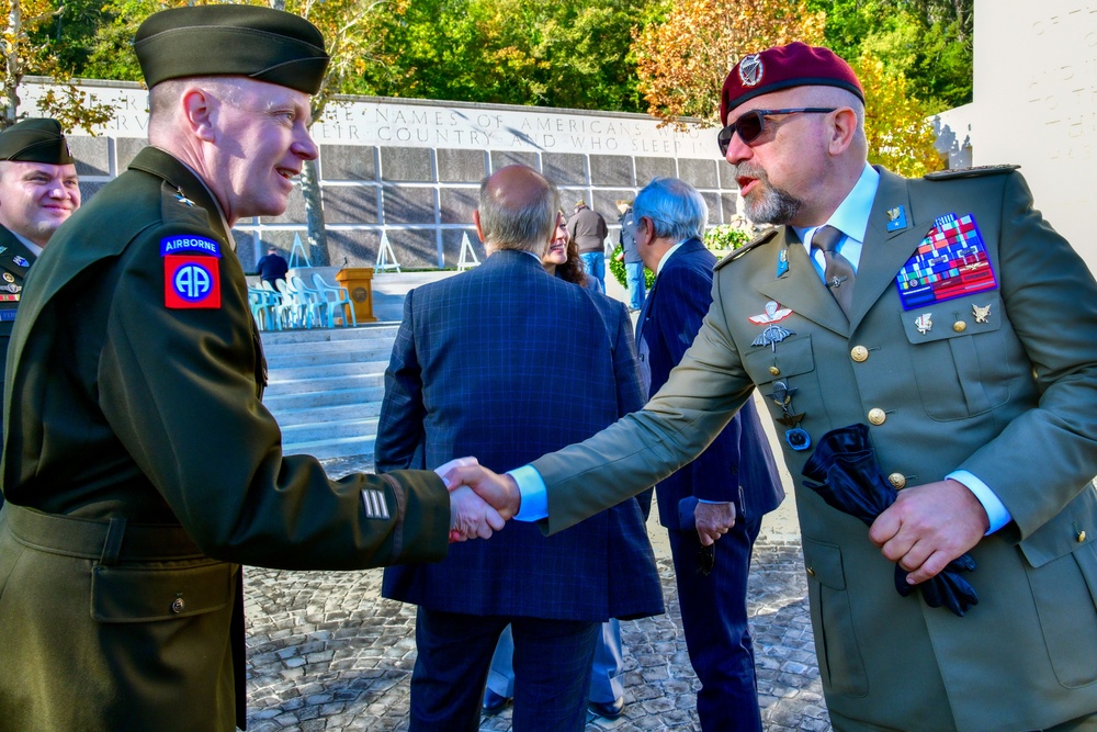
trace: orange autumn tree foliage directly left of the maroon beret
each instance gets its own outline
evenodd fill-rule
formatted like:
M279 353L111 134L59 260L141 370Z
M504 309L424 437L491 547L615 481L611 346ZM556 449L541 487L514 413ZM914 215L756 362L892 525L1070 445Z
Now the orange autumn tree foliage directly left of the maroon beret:
M739 58L793 41L819 45L825 21L803 0L676 0L633 33L648 113L717 123L720 89Z

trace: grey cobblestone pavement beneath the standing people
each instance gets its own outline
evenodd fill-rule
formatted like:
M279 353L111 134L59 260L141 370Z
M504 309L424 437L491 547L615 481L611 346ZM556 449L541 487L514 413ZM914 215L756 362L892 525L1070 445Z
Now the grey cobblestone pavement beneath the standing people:
M338 475L370 464L327 466ZM674 566L667 556L658 565L667 613L621 623L624 714L591 716L587 732L700 729ZM245 570L250 732L407 729L415 608L382 599L381 576ZM747 599L766 730L828 732L799 541L764 529ZM504 732L510 722L508 707L485 716L480 730Z

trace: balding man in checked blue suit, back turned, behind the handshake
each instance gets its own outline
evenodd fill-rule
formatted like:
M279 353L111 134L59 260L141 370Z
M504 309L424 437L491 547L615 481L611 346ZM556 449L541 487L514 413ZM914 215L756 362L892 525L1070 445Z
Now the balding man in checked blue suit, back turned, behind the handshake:
M385 373L378 470L473 453L502 470L643 405L624 306L541 266L558 207L555 187L524 166L484 181L474 218L488 258L405 301ZM583 730L601 622L663 612L632 498L556 537L513 522L495 541L454 544L443 562L386 572L382 594L419 606L412 731L478 729L507 623L514 728Z

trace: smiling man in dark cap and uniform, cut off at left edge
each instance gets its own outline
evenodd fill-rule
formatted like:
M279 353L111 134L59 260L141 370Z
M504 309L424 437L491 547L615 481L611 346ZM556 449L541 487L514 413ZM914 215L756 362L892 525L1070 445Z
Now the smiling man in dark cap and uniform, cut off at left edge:
M79 207L76 160L56 120L23 120L0 133L0 384L26 270Z

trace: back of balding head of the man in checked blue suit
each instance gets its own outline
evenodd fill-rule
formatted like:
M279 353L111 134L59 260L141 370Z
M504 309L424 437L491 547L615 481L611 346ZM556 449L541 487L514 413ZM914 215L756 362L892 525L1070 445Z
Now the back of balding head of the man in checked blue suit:
M480 183L476 224L490 250L520 249L541 257L556 228L556 187L527 166L500 168Z

